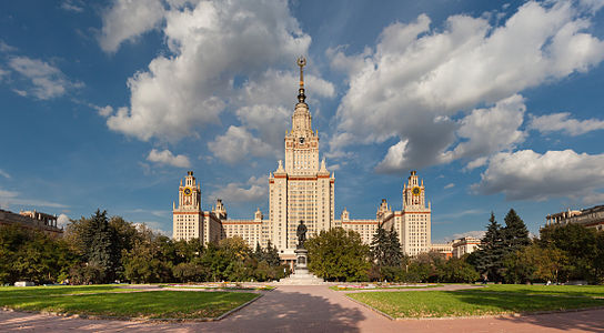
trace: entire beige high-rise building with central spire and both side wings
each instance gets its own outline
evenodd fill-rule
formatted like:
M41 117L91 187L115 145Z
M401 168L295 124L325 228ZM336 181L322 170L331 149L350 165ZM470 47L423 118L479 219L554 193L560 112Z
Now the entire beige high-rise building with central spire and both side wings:
M393 211L382 200L375 219L352 220L346 209L335 220L335 175L325 159L319 159L319 132L312 128L312 117L306 103L303 68L300 58L300 85L298 103L292 114L292 128L284 139L285 159L279 161L269 175L269 214L260 210L253 220L229 220L222 200L211 211L203 211L201 186L189 171L179 186L179 204L173 204L173 238L219 241L239 235L251 246L274 244L284 261L294 260L298 242L296 228L304 221L308 235L341 226L361 234L363 242L371 243L379 224L394 228L400 236L403 253L416 255L431 250L431 205L426 204L425 188L416 172L412 171L402 189L402 210Z

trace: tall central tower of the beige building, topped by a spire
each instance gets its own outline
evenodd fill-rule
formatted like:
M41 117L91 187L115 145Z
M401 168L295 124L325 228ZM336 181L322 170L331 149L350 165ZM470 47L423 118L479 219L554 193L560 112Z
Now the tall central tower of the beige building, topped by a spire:
M309 236L328 230L334 220L335 178L319 162L319 132L312 130L306 104L303 57L298 59L300 88L292 115L292 129L285 132L285 165L279 161L269 176L270 219L265 232L281 249L283 259L293 255L295 230L304 221Z

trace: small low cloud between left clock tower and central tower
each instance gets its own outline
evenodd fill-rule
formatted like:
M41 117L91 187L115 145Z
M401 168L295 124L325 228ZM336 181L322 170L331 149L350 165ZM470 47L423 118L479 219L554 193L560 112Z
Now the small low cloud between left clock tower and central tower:
M253 202L266 199L268 188L266 176L251 176L245 183L229 183L209 196L212 199L226 199L231 202Z

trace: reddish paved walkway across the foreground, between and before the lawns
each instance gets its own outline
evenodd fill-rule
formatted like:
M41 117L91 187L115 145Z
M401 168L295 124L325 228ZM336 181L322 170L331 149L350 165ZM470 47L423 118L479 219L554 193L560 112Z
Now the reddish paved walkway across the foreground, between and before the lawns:
M450 287L450 286L449 286ZM435 289L431 289L435 290ZM83 320L0 311L0 332L604 332L604 310L390 321L328 286L280 286L219 322Z

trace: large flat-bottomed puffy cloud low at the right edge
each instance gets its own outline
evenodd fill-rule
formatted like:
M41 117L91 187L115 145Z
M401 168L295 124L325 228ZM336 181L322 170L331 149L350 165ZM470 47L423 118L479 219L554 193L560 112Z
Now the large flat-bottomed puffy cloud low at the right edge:
M502 152L490 159L481 181L471 188L482 194L503 193L507 200L566 196L585 201L604 188L604 154Z

